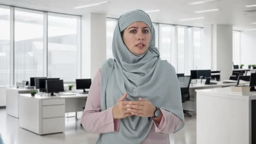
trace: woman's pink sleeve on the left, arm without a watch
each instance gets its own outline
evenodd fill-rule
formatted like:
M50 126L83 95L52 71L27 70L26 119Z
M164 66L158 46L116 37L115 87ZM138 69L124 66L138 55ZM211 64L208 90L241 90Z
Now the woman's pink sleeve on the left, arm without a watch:
M94 131L96 133L118 131L120 120L113 118L113 107L101 111L100 83L101 70L99 69L91 83L81 123L85 130Z

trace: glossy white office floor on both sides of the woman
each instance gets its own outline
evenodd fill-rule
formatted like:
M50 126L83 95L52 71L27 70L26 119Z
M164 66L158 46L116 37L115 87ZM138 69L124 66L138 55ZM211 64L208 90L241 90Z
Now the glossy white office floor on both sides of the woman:
M19 127L18 118L6 114L0 109L0 134L4 144L30 144L30 143L96 143L97 134L85 131L80 127L80 121L74 117L66 118L65 133L39 136ZM175 134L170 134L171 144L196 144L196 115L185 117L185 127ZM0 144L1 139L0 139Z

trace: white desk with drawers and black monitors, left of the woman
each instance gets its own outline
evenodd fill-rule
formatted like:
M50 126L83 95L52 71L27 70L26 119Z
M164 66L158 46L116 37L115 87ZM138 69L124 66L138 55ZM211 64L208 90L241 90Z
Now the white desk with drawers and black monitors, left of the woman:
M19 97L20 127L43 135L65 131L65 112L83 111L88 94Z

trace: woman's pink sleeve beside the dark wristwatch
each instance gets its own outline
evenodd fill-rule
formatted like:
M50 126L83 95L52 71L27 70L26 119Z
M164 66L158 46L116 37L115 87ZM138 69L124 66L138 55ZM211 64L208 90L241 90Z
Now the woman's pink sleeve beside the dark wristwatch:
M172 112L161 109L162 119L160 123L154 122L155 132L156 133L164 133L170 134L173 133L182 123L182 120L174 115Z

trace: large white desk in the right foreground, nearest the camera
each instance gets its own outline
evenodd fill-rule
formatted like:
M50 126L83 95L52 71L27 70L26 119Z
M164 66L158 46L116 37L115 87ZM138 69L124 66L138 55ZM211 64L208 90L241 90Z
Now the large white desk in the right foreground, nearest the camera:
M252 100L256 100L256 92L241 95L232 93L230 87L196 90L196 92L197 144L252 143L255 134L251 134L251 107Z

